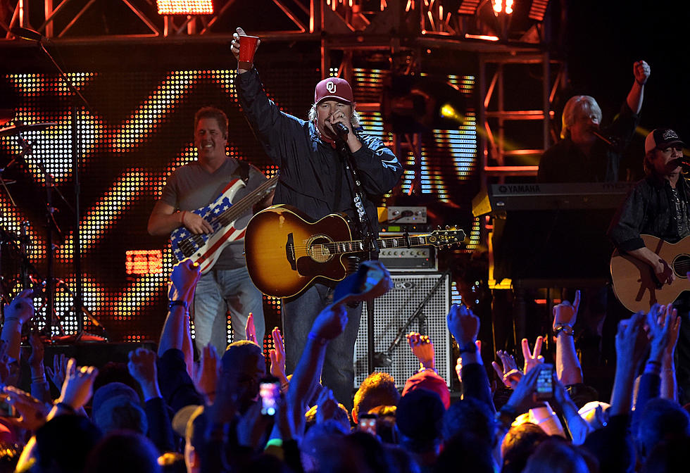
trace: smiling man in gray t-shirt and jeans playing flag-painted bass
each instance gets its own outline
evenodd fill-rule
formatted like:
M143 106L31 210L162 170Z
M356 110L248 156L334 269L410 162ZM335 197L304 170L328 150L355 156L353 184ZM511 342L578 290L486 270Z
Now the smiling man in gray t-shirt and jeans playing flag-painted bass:
M149 234L168 235L178 227L192 234L212 234L211 223L192 212L208 206L222 194L232 179L245 182L232 202L266 182L263 172L253 165L227 156L227 116L218 108L204 107L194 116L194 144L197 158L177 168L165 183L160 200L149 217ZM265 206L266 203L263 203ZM256 207L260 207L261 203ZM235 221L236 228L246 227L251 209ZM244 260L242 239L227 244L215 264L201 275L194 296L196 351L211 343L218 353L227 346L227 311L232 317L233 341L245 338L244 326L253 314L256 340L263 342L263 294L251 283Z

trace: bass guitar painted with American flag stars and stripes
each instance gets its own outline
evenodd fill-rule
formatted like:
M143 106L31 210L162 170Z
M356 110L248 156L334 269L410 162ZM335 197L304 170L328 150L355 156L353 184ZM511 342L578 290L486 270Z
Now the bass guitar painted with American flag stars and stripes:
M196 234L185 227L178 227L170 234L170 246L175 258L178 261L189 258L194 263L199 263L201 274L211 270L225 246L231 241L244 238L245 229L235 225L237 219L268 196L277 184L278 176L266 179L266 182L238 202L232 203L237 191L245 187L242 179L232 179L211 205L192 210L192 213L211 224L213 233Z

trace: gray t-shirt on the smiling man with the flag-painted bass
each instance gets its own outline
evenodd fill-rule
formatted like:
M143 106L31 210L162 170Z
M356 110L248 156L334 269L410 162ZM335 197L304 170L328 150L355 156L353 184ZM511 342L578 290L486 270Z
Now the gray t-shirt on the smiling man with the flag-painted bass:
M188 163L177 168L165 183L161 201L177 210L196 210L213 203L222 194L227 184L232 179L240 176L239 161L227 157L225 163L213 173L206 171L199 162ZM249 180L246 187L239 189L232 198L232 203L237 203L249 191L256 189L265 182L265 175L253 165L249 166ZM251 208L241 217L235 220L235 228L246 227L251 218ZM246 265L244 260L244 239L239 239L228 244L220 254L218 261L213 265L215 270L232 270Z

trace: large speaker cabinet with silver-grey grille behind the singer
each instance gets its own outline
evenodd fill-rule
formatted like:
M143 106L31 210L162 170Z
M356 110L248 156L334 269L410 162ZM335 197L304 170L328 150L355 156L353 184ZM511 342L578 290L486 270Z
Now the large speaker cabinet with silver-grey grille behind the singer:
M441 273L398 273L391 274L393 289L374 301L374 347L375 353L387 353L391 366L375 366L376 371L391 374L400 389L405 381L419 370L419 362L410 350L405 335L420 332L428 335L436 351L436 369L439 375L451 383L450 339L446 315L451 308L451 282L448 274ZM437 283L438 286L437 286ZM434 290L435 287L435 290ZM428 298L417 317L412 317L422 302ZM411 317L411 318L410 318ZM409 325L405 328L406 324ZM390 349L401 332L396 346ZM355 389L368 375L367 353L367 307L364 304L359 332L355 343Z

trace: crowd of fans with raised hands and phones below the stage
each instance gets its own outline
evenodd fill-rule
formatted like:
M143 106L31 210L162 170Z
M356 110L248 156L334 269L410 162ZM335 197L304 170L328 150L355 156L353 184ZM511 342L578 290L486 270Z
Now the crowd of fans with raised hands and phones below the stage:
M448 328L458 343L462 396L451 400L434 370L433 343L407 336L420 370L405 382L370 374L346 410L320 385L328 343L346 311L320 313L291 377L280 331L272 333L270 369L253 339L212 346L194 362L187 308L199 268L189 260L170 276L170 305L158 353L130 352L125 366L100 372L56 358L32 336L30 393L19 389L21 327L34 315L29 292L4 311L0 381L0 472L672 472L686 468L690 417L677 402L675 344L679 317L671 305L622 320L610 402L583 384L572 326L575 301L553 308L556 353L543 339L522 341L514 355L496 353L503 381L492 391L477 340L479 319L453 305ZM522 363L520 363L522 364ZM489 369L489 371L491 371ZM267 376L280 386L274 409L261 401ZM51 399L49 381L60 391ZM261 387L260 387L261 386ZM342 401L342 400L341 400Z

